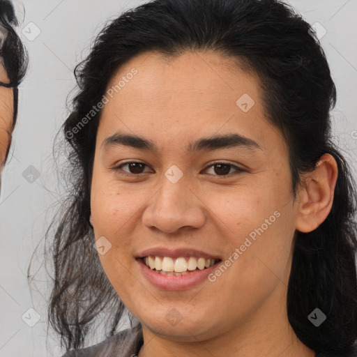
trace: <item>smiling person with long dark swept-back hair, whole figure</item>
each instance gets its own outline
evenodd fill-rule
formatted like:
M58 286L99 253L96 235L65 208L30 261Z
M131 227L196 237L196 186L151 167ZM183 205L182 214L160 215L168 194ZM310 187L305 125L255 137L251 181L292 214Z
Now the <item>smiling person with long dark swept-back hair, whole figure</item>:
M155 0L75 73L49 309L66 356L356 356L356 189L309 24ZM99 313L107 339L81 349Z

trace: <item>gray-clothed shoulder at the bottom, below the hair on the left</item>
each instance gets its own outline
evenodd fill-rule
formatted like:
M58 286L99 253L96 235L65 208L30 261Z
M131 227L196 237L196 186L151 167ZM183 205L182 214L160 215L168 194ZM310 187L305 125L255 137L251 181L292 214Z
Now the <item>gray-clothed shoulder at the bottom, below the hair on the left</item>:
M62 357L132 357L141 344L141 328L128 328L93 346L68 351Z

